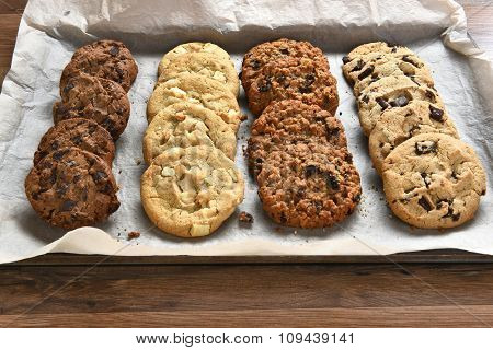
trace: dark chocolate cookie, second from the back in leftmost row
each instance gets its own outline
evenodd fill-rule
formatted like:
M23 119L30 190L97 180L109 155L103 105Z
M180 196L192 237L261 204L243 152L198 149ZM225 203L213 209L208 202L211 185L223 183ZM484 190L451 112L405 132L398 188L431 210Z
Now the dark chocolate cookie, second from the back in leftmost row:
M71 118L91 119L110 131L114 140L127 127L129 116L130 103L122 86L84 73L68 81L61 102L53 107L55 124Z

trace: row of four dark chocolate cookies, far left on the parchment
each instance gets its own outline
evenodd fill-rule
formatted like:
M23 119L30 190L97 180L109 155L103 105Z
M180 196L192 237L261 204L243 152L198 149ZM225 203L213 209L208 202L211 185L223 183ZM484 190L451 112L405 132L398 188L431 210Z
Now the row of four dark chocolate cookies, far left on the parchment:
M79 48L64 69L55 126L43 136L25 180L27 199L51 225L93 225L118 209L114 141L130 115L126 92L137 71L130 51L112 40Z

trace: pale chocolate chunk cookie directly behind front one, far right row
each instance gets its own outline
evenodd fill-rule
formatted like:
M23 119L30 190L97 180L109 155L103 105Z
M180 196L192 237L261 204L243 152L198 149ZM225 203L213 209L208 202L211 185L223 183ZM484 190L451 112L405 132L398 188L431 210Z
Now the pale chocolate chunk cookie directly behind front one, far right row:
M447 112L425 101L411 101L399 109L387 109L380 116L369 136L369 153L374 166L381 174L381 166L390 152L405 140L420 135L439 132L459 138Z

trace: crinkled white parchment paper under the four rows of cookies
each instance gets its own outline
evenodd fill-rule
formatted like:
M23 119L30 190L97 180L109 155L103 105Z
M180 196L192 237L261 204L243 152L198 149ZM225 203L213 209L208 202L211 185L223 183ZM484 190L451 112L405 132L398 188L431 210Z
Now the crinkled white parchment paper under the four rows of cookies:
M442 35L442 37L440 37ZM243 122L237 164L248 179L245 199L209 237L182 240L152 228L140 205L138 164L147 127L146 103L160 57L176 44L215 42L231 52L237 68L251 46L283 36L307 39L328 55L339 80L341 118L363 180L359 209L341 225L294 230L274 224L262 211L249 177L242 147L252 121ZM121 186L119 210L96 228L66 233L37 218L24 195L24 178L43 133L53 125L58 80L76 47L96 38L125 42L139 75L129 92L131 116L117 142L114 174ZM423 231L393 218L371 167L355 98L341 73L341 58L370 40L409 45L433 69L436 86L461 138L480 155L488 173L488 195L475 219L458 229ZM444 45L445 44L445 45ZM463 10L454 1L158 1L32 0L21 21L12 68L0 96L0 262L47 252L106 255L376 255L435 248L493 254L492 135L493 63L467 36ZM241 97L245 107L244 97ZM246 112L246 109L244 109ZM238 212L253 214L252 228ZM141 233L126 241L129 231Z

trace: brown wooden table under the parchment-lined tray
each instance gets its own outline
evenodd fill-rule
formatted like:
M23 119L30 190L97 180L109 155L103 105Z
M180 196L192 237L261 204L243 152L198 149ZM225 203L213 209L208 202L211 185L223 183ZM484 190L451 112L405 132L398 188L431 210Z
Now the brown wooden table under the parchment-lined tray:
M493 56L491 1L461 1ZM0 0L0 81L24 0ZM433 260L433 262L423 262ZM460 252L252 265L48 255L0 266L0 326L456 327L493 325L493 258ZM284 261L284 264L279 264ZM310 260L307 260L310 261ZM458 262L461 261L461 262Z

